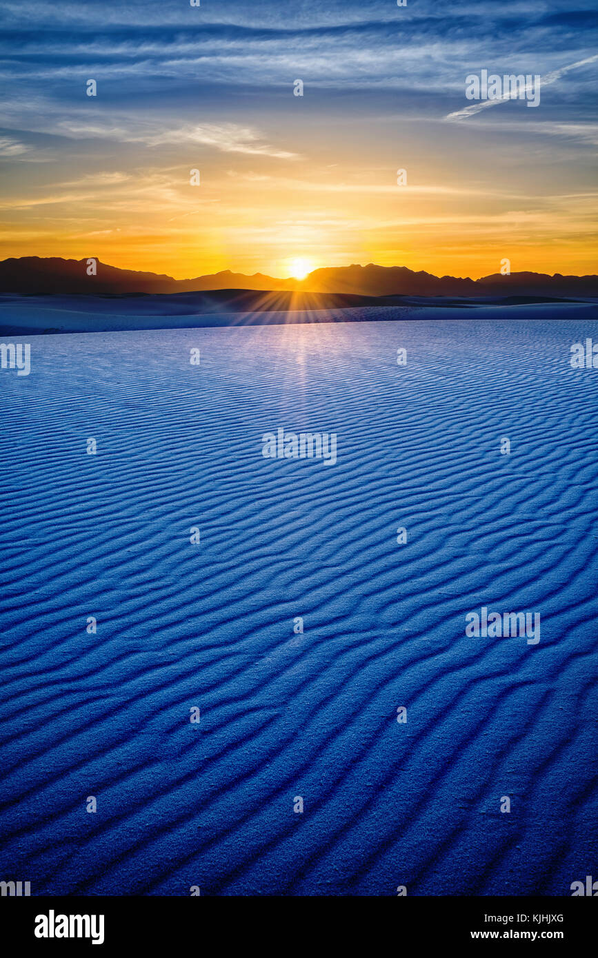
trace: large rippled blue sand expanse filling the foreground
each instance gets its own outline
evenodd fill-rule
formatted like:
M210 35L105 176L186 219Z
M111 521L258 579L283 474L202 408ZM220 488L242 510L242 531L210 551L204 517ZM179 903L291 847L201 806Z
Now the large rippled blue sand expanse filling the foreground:
M37 335L0 371L3 875L570 894L598 845L598 371L569 350L598 324L527 309ZM278 426L334 431L334 467L265 459ZM482 605L537 610L540 643L468 638Z

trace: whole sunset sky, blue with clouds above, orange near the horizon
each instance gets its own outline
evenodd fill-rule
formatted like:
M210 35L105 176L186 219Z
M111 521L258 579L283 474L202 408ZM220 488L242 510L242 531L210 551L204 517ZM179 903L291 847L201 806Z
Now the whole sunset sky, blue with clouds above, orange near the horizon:
M597 34L594 0L0 0L0 258L597 272ZM539 105L480 109L482 70Z

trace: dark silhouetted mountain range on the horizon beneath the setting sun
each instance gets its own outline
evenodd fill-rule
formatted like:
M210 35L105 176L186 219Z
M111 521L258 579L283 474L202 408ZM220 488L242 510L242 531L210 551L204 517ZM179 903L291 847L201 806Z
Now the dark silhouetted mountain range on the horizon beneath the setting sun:
M255 273L244 276L226 269L209 276L174 280L172 276L119 269L97 260L97 275L87 276L87 260L41 259L26 256L0 262L0 292L30 295L127 295L183 293L215 289L253 289L353 296L598 296L598 276L562 276L555 273L498 273L480 280L433 276L406 266L333 266L314 269L305 280L277 279Z

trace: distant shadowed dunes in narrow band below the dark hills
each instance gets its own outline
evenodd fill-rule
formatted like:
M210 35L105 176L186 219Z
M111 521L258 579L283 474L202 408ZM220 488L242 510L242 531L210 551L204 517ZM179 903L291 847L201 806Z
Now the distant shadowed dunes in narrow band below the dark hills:
M0 295L0 335L55 332L196 329L288 323L361 323L397 319L598 319L598 300L550 297L455 299L350 296L218 289L207 293L140 296Z

